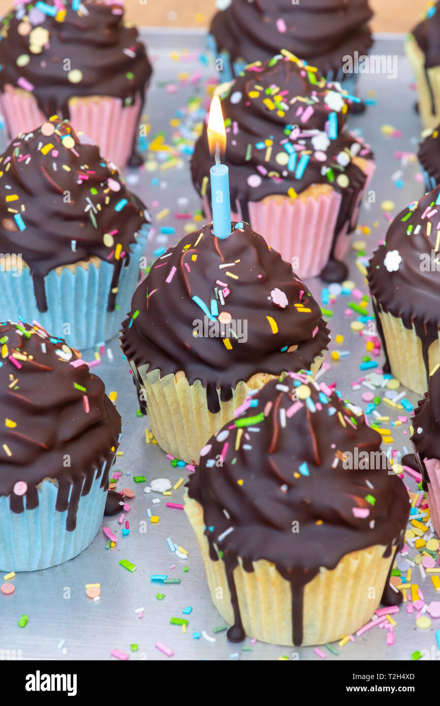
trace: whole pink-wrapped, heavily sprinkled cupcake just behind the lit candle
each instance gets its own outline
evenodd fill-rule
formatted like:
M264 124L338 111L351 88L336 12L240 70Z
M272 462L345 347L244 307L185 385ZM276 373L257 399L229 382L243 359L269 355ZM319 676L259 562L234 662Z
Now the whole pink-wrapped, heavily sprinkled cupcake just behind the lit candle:
M299 277L345 280L340 258L374 171L369 148L345 130L351 98L283 49L248 66L220 100L232 217L249 222ZM207 214L212 164L205 128L191 172Z

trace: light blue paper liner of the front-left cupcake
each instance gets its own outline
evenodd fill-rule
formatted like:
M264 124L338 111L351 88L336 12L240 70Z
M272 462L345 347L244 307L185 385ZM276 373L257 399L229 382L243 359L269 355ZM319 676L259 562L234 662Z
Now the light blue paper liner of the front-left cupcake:
M69 561L81 554L100 529L107 492L100 488L100 477L93 480L90 492L81 496L76 515L76 530L66 530L67 510L56 510L58 487L44 481L33 510L13 513L10 496L0 497L0 570L35 571Z

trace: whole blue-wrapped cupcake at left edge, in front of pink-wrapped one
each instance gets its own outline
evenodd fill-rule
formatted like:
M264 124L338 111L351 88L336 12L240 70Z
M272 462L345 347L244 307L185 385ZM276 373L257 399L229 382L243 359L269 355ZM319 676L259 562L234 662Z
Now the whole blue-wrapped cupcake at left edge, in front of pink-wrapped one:
M54 116L13 140L0 170L0 311L78 348L117 335L149 229L117 167Z

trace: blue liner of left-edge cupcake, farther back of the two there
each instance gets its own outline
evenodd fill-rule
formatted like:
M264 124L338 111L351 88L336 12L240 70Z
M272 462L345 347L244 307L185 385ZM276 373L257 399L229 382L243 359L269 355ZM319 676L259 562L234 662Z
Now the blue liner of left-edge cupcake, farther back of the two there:
M60 274L51 270L44 277L48 310L38 311L30 270L23 267L20 275L12 270L1 273L0 319L6 321L38 321L51 335L66 339L68 345L78 349L92 348L96 343L113 338L121 328L139 277L139 261L143 255L150 232L145 224L138 232L136 243L131 246L130 262L121 269L117 308L107 311L112 286L113 265L100 261L96 267L77 266L75 272L64 267Z

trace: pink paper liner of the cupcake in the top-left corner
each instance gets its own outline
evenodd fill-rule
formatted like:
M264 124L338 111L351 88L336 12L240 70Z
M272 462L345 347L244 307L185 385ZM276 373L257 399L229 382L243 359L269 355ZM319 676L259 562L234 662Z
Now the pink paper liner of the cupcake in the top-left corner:
M0 95L0 109L9 140L19 133L35 130L47 120L31 93L16 90L11 85L7 85ZM140 96L136 96L133 105L127 107L120 98L110 96L101 100L78 98L69 102L73 128L83 131L99 145L103 157L121 168L126 166L131 156L140 111Z

